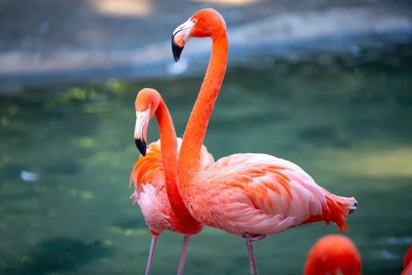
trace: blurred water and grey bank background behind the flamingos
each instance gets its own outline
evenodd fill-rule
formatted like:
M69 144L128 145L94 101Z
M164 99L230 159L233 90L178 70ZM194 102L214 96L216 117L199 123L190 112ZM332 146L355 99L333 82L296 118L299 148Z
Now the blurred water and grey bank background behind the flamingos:
M128 186L134 100L157 89L183 135L211 41L192 39L174 63L170 39L206 7L230 43L209 152L276 155L356 197L344 234L363 274L400 274L412 243L409 0L0 0L0 274L144 274L150 232ZM268 236L258 270L301 274L336 232ZM160 236L152 274L176 272L182 241ZM249 274L244 241L205 228L185 274Z

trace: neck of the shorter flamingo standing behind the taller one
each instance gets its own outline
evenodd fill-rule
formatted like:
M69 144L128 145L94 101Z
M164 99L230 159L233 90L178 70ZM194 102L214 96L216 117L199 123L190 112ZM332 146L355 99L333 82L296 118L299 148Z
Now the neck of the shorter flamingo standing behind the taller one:
M168 107L166 107L162 98L155 114L159 124L161 160L165 175L166 192L170 206L172 206L172 212L169 213L170 222L174 228L183 234L196 234L203 228L203 225L198 223L187 210L177 188L176 131Z

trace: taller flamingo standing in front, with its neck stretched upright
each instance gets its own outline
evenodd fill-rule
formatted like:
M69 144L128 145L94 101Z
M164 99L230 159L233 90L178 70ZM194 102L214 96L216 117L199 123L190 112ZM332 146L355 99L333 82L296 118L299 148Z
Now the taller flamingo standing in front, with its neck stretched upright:
M209 66L183 135L178 161L179 192L190 214L214 228L246 239L251 273L257 274L253 242L297 225L330 221L347 230L354 197L339 197L318 186L299 166L262 153L223 157L202 168L201 146L225 77L226 23L211 8L199 10L172 34L172 52L179 61L192 37L211 37Z

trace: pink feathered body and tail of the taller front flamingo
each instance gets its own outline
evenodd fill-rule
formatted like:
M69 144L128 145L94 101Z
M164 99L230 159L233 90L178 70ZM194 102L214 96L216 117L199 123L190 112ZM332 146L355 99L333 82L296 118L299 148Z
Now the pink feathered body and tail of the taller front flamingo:
M296 164L266 154L235 154L203 168L181 188L191 214L231 234L277 234L314 221L347 230L354 198L318 186Z

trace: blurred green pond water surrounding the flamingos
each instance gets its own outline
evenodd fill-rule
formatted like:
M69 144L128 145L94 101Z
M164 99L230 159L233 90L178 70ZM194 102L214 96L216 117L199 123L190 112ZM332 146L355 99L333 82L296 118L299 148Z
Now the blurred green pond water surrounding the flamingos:
M287 74L230 69L205 145L215 159L269 153L354 196L350 236L364 274L400 274L412 242L412 66L365 65ZM144 274L150 233L129 197L134 100L158 89L183 134L201 78L29 87L0 103L0 274ZM157 123L149 142L157 140ZM37 173L23 181L21 171ZM335 225L304 225L255 245L260 274L301 274L311 245ZM183 236L164 232L152 274L175 274ZM244 241L205 228L185 274L249 274Z

